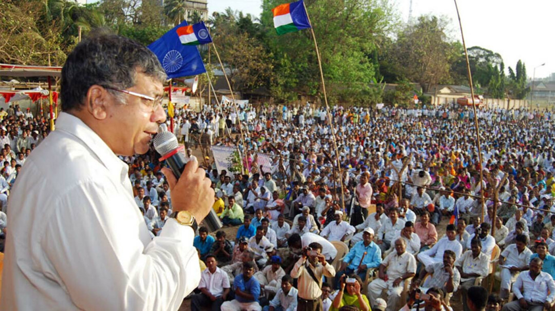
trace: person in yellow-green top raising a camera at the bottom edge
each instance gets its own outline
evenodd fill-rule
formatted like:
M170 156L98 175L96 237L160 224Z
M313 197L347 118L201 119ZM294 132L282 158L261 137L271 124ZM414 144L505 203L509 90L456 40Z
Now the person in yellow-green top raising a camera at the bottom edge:
M353 305L361 311L370 310L370 302L366 295L360 293L362 279L355 273L343 274L340 278L341 287L335 296L334 302L331 304L332 310L337 310L344 305ZM345 288L347 292L345 293Z

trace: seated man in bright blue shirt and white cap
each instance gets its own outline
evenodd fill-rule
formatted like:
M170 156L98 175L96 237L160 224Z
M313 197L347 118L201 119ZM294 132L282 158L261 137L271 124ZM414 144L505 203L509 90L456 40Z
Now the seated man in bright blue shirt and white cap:
M339 272L336 274L337 279L340 279L343 274L355 272L364 280L367 269L380 266L381 249L372 241L373 239L374 230L372 228L368 227L362 231L362 241L356 243L343 259ZM339 282L336 283L336 289L339 289Z

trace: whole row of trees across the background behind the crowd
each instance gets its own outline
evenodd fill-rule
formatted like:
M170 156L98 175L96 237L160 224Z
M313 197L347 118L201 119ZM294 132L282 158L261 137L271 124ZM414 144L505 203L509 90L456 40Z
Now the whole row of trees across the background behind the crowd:
M322 95L311 29L285 35L274 29L271 9L286 2L263 0L259 19L228 8L205 21L235 90L265 90L278 101ZM424 91L437 84L468 85L462 44L450 37L450 21L443 17L421 16L402 24L391 0L305 4L331 103L378 103L384 100L384 83L405 87L411 81ZM68 0L2 1L0 62L62 65L78 42L79 29L86 36L94 28L108 28L148 45L184 15L180 0L167 0L163 7L157 0L103 0L85 6ZM188 22L200 18L193 14ZM200 50L208 63L208 48ZM211 53L212 67L219 68ZM528 94L523 63L509 67L506 75L501 55L492 50L471 47L468 58L478 92L512 98ZM394 97L390 95L386 98Z

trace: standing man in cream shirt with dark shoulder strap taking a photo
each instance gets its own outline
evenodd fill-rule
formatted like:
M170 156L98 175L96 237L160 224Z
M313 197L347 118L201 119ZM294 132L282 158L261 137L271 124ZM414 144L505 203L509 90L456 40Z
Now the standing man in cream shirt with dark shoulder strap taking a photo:
M326 262L320 243L310 243L291 270L291 277L298 278L297 309L322 310L322 276L334 277L335 269Z

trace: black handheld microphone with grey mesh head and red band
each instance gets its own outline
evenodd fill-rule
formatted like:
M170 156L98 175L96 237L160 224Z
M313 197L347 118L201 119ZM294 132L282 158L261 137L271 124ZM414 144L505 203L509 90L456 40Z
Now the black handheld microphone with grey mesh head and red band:
M165 161L170 167L175 177L179 180L183 169L185 169L185 155L183 154L183 145L179 146L175 135L168 131L159 131L153 139L154 149L158 151L162 157L160 161ZM216 215L213 208L210 208L210 213L204 218L204 222L210 232L219 230L223 225L220 218Z

